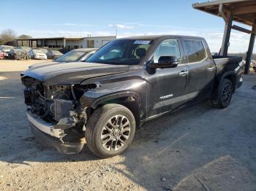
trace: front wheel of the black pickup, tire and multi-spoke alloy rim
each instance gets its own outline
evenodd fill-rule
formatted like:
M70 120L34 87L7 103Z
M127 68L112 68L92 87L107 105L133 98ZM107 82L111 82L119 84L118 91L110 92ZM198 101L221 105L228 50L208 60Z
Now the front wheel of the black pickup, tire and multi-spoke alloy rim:
M116 123L118 125L115 126ZM119 155L132 143L135 127L135 117L127 107L106 104L89 118L86 144L99 157Z

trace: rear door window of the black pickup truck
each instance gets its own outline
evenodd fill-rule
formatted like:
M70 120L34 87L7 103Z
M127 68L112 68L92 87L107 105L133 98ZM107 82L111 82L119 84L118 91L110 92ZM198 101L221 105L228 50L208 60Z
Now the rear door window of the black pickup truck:
M206 58L206 50L200 40L184 40L184 51L189 63L200 62Z

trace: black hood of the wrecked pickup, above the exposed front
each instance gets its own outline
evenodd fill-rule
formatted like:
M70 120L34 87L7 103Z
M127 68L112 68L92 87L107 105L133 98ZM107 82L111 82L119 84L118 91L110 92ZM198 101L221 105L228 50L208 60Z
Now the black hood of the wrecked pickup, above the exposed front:
M76 84L85 79L124 73L128 70L127 65L86 62L54 63L27 69L23 71L21 77L33 77L45 82L45 85Z

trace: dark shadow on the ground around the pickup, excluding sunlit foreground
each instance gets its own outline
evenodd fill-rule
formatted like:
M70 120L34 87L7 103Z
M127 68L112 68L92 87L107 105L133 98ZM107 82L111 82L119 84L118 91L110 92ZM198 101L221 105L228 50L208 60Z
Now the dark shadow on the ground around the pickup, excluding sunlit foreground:
M246 95L238 90L226 109L214 109L206 101L147 122L123 155L101 160L87 147L78 155L61 155L39 144L26 121L18 72L0 76L0 161L7 165L95 161L146 190L256 187L256 120L249 112L255 111L251 99L256 95L247 86Z

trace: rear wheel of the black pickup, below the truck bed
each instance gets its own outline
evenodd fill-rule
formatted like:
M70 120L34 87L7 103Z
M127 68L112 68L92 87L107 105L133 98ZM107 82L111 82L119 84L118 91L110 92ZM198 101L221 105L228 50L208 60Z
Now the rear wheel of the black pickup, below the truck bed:
M211 104L219 109L223 109L230 104L233 95L233 84L230 79L222 79L218 87L217 98L211 100Z

